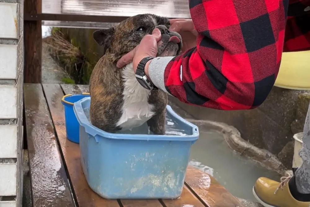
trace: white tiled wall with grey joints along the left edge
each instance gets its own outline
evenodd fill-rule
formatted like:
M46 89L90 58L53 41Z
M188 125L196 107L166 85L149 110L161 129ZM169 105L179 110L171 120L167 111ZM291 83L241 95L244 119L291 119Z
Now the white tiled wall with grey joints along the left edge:
M21 207L23 3L0 0L0 207Z

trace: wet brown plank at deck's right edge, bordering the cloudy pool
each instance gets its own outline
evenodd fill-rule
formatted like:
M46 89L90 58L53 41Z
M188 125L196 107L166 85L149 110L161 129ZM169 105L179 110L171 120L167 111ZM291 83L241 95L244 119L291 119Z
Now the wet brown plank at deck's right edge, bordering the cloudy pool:
M187 168L185 183L208 207L245 207L215 178L192 166Z

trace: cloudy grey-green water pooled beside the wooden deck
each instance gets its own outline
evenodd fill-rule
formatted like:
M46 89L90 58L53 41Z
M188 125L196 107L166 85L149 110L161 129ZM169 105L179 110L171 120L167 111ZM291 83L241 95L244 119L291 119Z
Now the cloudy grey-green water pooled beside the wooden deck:
M280 180L281 175L233 151L221 133L199 132L189 164L213 175L232 195L256 201L252 188L259 177Z

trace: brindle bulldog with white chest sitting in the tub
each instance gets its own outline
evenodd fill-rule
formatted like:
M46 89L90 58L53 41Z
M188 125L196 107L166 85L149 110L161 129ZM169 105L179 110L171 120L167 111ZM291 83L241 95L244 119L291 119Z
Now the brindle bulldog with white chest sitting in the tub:
M135 77L132 63L119 69L117 61L134 49L154 28L162 33L157 56L175 56L182 48L180 34L169 31L165 17L140 14L113 28L94 32L95 41L104 47L90 79L91 123L110 133L132 129L147 122L154 134L165 134L167 94L147 90Z

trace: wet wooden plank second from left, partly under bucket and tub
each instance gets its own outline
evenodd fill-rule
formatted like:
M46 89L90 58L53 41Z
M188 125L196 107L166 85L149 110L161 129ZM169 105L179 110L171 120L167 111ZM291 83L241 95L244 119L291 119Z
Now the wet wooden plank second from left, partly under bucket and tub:
M60 101L64 94L60 85L43 84L43 88L79 207L119 207L117 200L103 199L86 182L80 163L79 145L66 138L64 107Z

